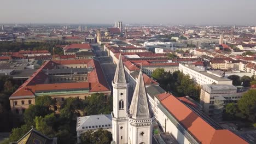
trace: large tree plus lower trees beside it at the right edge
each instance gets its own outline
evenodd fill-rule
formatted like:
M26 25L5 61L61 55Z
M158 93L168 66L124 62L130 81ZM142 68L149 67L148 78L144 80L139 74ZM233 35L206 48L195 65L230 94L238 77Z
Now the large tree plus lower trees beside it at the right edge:
M250 89L235 103L226 105L224 118L227 120L247 120L256 127L256 89Z

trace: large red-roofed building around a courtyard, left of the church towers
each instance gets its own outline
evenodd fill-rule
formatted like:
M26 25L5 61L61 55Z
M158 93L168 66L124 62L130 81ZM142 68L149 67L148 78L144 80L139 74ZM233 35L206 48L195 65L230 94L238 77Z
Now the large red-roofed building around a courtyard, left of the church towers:
M110 94L100 63L95 59L68 59L44 63L9 99L11 110L21 114L42 95L63 101L68 97L85 99L92 93Z

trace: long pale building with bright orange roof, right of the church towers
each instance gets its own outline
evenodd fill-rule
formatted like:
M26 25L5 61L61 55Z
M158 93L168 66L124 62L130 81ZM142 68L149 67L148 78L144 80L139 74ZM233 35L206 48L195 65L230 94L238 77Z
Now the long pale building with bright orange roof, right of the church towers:
M158 106L153 112L160 127L165 133L171 133L179 143L248 143L203 115L188 100L161 93L155 95L155 101Z

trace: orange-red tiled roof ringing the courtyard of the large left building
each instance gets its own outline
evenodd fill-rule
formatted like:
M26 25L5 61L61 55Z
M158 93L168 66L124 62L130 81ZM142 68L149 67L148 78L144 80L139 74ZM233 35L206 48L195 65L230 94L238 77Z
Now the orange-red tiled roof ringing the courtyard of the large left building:
M43 69L53 69L56 64L81 64L94 68L88 74L88 82L76 83L45 83L48 75ZM90 88L90 92L110 91L101 65L95 59L72 59L63 61L48 61L42 65L28 80L26 80L11 97L32 96L36 91L53 91L55 89Z

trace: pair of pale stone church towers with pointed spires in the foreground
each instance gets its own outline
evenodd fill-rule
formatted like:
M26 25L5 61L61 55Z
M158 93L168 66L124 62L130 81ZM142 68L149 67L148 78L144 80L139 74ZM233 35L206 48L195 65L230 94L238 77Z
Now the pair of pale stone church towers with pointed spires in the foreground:
M152 143L154 117L144 85L142 70L139 72L135 91L129 107L129 82L126 80L121 55L115 71L113 86L112 134L116 144Z

